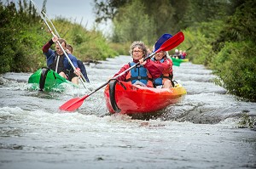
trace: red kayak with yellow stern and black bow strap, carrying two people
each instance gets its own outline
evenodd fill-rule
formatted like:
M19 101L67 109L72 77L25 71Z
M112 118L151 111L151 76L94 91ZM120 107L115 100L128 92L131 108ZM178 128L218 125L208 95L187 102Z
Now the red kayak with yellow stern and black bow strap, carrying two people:
M186 93L180 84L172 88L153 88L113 81L105 88L104 97L110 113L134 114L163 110L180 102Z

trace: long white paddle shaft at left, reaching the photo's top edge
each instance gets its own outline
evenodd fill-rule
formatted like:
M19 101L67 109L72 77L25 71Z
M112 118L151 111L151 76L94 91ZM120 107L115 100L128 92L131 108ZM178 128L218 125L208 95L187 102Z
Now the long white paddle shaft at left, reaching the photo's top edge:
M30 0L30 1L33 3L34 7L35 7L35 8L37 8L37 10L38 10L38 14L39 14L39 15L40 15L40 17L42 18L42 20L44 20L44 23L45 23L45 25L47 25L47 27L48 27L48 29L49 29L50 33L52 34L52 36L53 36L53 37L55 37L55 33L51 30L51 28L50 28L50 26L49 26L48 22L45 20L45 18L44 18L44 16L43 16L43 14L40 12L40 10L39 10L39 8L38 8L37 4L36 4L36 3L34 3L32 0ZM46 14L44 14L44 15L46 15ZM47 17L47 18L48 18L48 17ZM52 22L51 22L51 23L52 23ZM53 24L52 24L52 25L53 25ZM57 34L58 34L58 33L57 33ZM60 36L59 36L59 34L58 34L58 36L57 36L57 37L60 37ZM68 60L69 64L72 66L73 70L76 70L76 68L75 68L75 66L73 65L73 63L72 63L71 59L69 59L69 57L67 56L66 51L65 51L65 50L64 50L64 48L61 46L61 42L59 42L59 41L57 40L57 43L59 44L59 46L60 46L61 50L63 51L63 54L65 54L65 56L67 57L67 60ZM82 73L80 73L80 75L81 75L82 77L84 77ZM79 79L80 79L80 78L79 78ZM80 80L81 80L82 84L84 85L84 87L86 88L86 86L85 86L85 84L84 84L84 82L85 82L85 78L84 78L84 81L83 81L82 79L80 79Z

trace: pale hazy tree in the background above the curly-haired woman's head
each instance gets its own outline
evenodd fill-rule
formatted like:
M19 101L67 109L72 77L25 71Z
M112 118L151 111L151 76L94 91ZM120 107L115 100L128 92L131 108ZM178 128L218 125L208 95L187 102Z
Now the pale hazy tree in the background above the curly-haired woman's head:
M145 14L144 4L134 0L119 8L119 13L113 20L114 42L133 42L142 40L146 44L154 43L156 36L152 20Z

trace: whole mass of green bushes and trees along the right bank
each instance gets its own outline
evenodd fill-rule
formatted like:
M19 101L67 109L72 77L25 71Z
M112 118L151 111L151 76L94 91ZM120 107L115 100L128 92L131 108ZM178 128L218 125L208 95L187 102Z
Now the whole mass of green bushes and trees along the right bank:
M253 5L254 4L254 5ZM201 22L185 29L189 59L218 75L215 82L229 93L256 101L256 13L254 1L246 1L226 20Z

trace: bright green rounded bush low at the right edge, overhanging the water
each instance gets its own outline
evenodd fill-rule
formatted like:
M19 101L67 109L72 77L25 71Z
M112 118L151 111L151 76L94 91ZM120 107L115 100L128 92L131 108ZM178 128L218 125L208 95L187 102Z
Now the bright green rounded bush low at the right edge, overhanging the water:
M256 49L254 42L226 42L213 59L218 84L244 99L256 101Z

